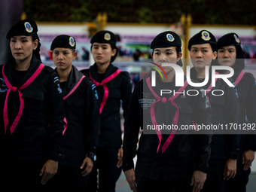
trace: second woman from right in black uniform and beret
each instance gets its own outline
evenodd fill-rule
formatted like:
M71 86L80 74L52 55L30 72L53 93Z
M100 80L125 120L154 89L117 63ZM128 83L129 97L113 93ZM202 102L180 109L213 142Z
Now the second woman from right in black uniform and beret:
M217 57L217 43L211 32L202 30L188 42L190 59L194 68L190 69L190 78L202 83L206 78L206 66L209 67L209 81L203 86L209 97L214 125L240 122L239 101L234 87L229 87L222 79L215 81L212 87L212 63ZM222 90L222 96L215 96L213 91ZM215 92L217 93L217 92ZM224 191L224 179L236 175L236 160L239 153L239 135L224 135L213 130L209 172L203 191Z

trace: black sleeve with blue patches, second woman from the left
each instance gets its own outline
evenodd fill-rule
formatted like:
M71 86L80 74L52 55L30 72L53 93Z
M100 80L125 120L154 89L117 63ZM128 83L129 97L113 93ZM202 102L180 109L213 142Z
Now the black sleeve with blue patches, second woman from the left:
M85 99L85 117L84 122L86 129L86 142L87 153L91 152L96 153L96 146L99 142L99 102L98 102L98 93L96 90L95 84L93 81L90 81L87 86L87 98Z

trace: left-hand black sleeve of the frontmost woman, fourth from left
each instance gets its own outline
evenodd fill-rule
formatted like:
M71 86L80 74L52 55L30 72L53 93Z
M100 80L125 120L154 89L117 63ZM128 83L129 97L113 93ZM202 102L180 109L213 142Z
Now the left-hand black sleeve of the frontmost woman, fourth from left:
M136 157L137 143L139 140L139 91L137 87L133 90L127 116L124 123L123 136L123 172L134 168L133 158Z

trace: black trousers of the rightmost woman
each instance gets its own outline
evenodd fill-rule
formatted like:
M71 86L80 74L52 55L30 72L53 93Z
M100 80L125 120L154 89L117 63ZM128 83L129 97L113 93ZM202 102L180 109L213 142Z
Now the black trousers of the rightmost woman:
M225 181L225 192L246 192L246 184L249 180L251 169L243 170L242 160L237 161L236 176Z

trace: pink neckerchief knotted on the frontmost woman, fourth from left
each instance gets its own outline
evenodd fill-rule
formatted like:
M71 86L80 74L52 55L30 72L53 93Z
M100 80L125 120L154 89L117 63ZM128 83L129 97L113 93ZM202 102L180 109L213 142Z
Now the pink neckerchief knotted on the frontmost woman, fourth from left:
M154 95L154 97L157 99L157 101L155 101L152 105L151 105L151 120L152 120L152 123L155 127L157 127L157 120L156 120L156 115L155 115L155 112L154 112L154 107L155 105L157 105L157 102L163 102L163 103L166 103L166 101L170 101L172 102L172 105L176 108L176 112L175 112L175 116L173 118L173 125L177 125L178 123L178 106L176 105L176 103L174 102L174 99L176 99L176 97L180 94L180 92L182 92L185 87L187 87L187 81L185 81L184 83L184 86L183 87L180 87L178 89L177 92L179 92L178 94L175 94L173 96L171 96L169 99L166 99L166 97L163 97L162 99L160 98L160 96L157 96L157 93L154 92L153 88L151 87L151 82L150 82L150 78L147 78L147 84L148 84L148 88L149 90L151 91L151 93ZM157 136L158 136L158 139L159 139L159 145L157 147L157 153L159 151L159 148L160 148L160 144L161 144L161 141L162 141L162 134L160 132L159 129L156 129L156 132L157 132ZM166 140L166 142L163 144L162 146L162 154L164 151L166 151L166 148L168 148L169 144L172 142L172 139L174 138L175 136L175 132L176 130L172 130L172 133L169 135L168 139Z

